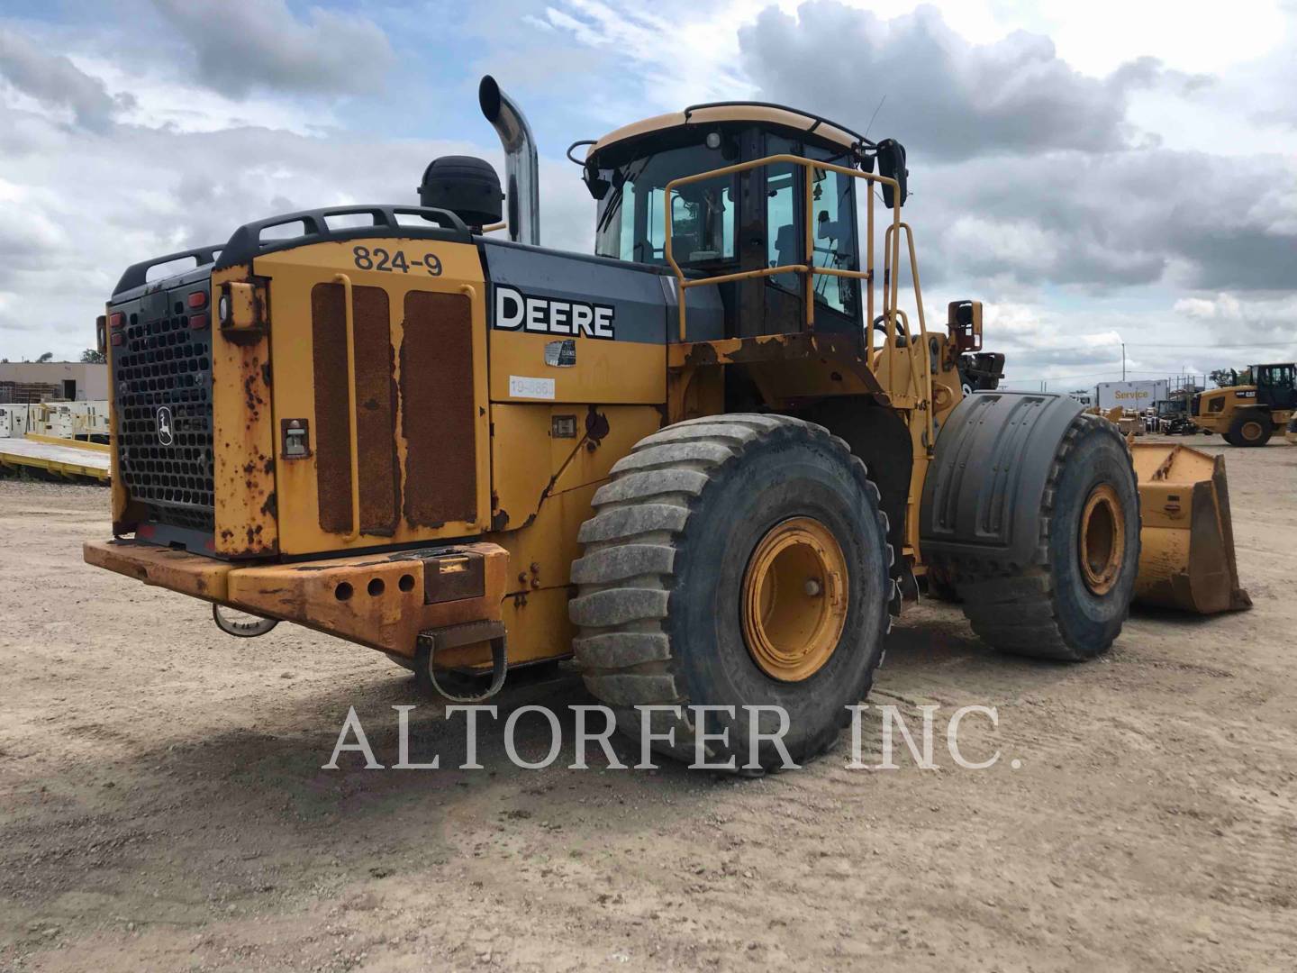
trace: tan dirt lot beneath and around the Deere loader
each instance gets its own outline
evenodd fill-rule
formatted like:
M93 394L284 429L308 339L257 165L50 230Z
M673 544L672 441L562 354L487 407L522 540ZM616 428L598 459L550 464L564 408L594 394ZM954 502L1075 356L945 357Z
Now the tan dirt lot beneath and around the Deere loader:
M231 640L82 564L105 490L0 483L0 968L1293 969L1297 448L1228 461L1253 611L1137 612L1054 666L925 602L873 702L996 706L961 742L999 763L851 771L844 737L759 781L512 767L506 711L589 702L571 679L506 693L486 771L453 769L463 723L428 702L415 759L450 769L323 771L349 706L396 760L403 671Z

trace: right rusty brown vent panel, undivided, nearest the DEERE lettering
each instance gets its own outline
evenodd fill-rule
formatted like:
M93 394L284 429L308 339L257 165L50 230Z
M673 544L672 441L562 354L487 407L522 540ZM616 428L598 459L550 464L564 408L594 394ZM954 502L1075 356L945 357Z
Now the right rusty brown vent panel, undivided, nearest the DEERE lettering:
M477 499L472 305L464 294L411 291L403 328L405 518L416 527L472 520Z

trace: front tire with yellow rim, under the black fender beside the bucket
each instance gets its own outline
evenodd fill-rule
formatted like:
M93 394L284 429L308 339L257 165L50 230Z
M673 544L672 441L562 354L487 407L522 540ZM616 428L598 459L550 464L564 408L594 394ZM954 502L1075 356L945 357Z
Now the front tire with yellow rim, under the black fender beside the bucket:
M1013 576L955 559L973 631L1017 655L1082 662L1122 631L1140 551L1139 488L1117 427L1079 414L1054 454L1040 505L1035 563Z

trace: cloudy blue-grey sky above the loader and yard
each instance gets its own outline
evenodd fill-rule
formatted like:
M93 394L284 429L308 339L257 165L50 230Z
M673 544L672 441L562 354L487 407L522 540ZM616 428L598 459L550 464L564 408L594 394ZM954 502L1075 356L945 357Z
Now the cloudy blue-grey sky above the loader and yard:
M905 144L929 323L982 300L1010 387L1297 359L1297 0L6 0L0 358L79 358L131 262L502 170L486 73L545 245L591 249L569 143L777 101Z

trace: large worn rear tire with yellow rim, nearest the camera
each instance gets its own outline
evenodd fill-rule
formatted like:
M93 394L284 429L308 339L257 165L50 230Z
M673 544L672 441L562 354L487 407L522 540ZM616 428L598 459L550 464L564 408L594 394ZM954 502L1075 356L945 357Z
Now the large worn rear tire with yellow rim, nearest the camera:
M878 489L821 426L732 414L641 440L594 496L572 566L573 654L590 691L639 738L643 706L661 752L764 772L782 765L751 723L778 725L789 756L826 750L882 659L895 586ZM708 711L702 727L689 706ZM725 741L712 734L728 733Z

